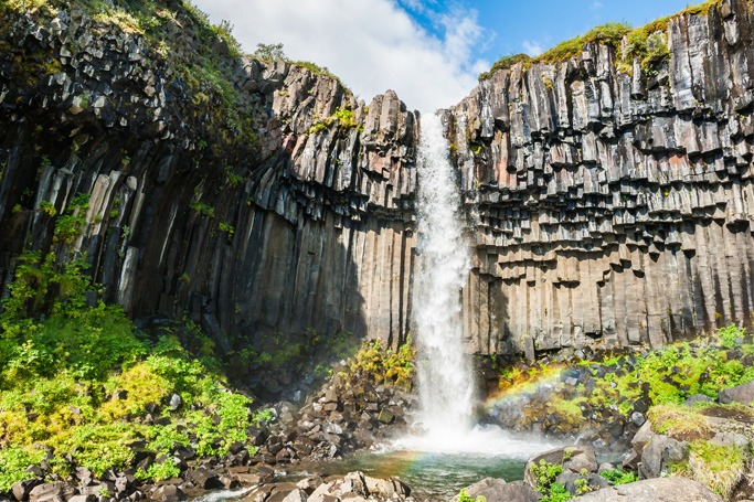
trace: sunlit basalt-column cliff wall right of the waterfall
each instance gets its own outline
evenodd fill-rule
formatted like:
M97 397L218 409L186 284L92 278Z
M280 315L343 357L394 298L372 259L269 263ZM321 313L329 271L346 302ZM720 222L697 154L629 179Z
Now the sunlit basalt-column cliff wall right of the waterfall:
M661 345L752 322L751 3L671 19L655 74L615 51L517 64L448 113L476 263L470 351ZM529 342L531 343L531 342Z

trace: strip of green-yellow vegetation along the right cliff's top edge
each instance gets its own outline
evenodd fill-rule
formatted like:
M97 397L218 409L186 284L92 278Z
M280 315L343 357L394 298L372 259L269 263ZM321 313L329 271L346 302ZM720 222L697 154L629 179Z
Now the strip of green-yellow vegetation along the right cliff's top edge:
M521 63L528 68L534 63L557 63L567 61L581 54L584 46L598 43L612 47L616 52L618 70L629 73L631 62L637 58L645 72L652 73L665 63L670 53L667 46L666 32L672 19L681 15L707 14L711 8L719 6L722 0L708 0L704 3L691 6L684 10L655 20L644 26L633 29L629 24L610 22L593 28L583 35L563 41L542 54L531 57L527 54L507 55L498 60L488 72L479 74L479 81L488 79L499 70L508 70ZM622 41L626 39L626 51L622 53Z

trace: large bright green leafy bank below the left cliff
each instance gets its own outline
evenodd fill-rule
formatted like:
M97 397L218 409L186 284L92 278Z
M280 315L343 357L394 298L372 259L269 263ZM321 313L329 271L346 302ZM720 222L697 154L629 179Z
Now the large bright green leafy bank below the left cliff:
M129 444L137 439L161 455L192 444L200 456L224 455L231 444L246 440L255 419L251 399L227 388L214 360L195 359L169 332L147 339L118 307L86 307L79 300L94 287L83 268L57 267L54 258L28 257L2 302L0 492L28 478L26 466L39 462L45 448L53 451L53 472L67 474L71 466L63 458L73 452L76 464L99 476L129 467ZM70 280L65 300L52 292L64 288L47 288L49 301L29 308L36 298L32 278L57 285L60 275ZM185 330L193 333L195 327ZM171 393L183 402L177 410L167 406ZM145 424L150 405L170 423ZM176 423L191 430L192 439L178 432Z

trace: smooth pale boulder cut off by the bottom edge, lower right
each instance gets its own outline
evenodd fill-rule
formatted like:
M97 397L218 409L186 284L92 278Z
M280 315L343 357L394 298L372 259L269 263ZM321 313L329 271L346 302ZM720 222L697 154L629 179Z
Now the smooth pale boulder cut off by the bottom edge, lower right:
M686 478L656 478L583 495L583 502L722 502L709 488Z

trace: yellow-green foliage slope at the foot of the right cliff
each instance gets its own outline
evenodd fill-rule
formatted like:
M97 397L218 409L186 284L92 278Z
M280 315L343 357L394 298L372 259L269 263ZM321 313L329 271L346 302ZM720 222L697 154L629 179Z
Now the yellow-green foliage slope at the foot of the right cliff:
M561 432L583 428L587 419L609 419L614 415L613 408L628 419L639 399L646 399L648 405L680 405L694 394L716 398L723 388L754 381L754 367L742 363L742 359L746 362L754 355L754 345L744 343L744 338L743 329L731 325L710 339L677 343L644 355L616 354L604 356L601 362L535 363L531 367L516 364L500 370L499 393L495 398L531 400L522 409L522 417L554 415L556 424L552 428ZM743 357L729 357L729 350L733 348L741 351ZM588 378L588 389L583 383L565 385L562 373L567 371ZM591 375L584 375L585 371ZM550 392L542 392L544 383L550 385ZM669 419L683 413L693 414L694 420L686 416L679 420L687 420L688 427L703 427L707 420L703 416L697 417L687 408L671 414L676 408L659 407L654 413L665 409ZM582 409L588 409L588 414ZM688 432L690 436L692 432L703 435L704 430Z

